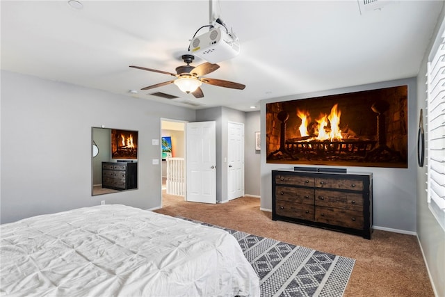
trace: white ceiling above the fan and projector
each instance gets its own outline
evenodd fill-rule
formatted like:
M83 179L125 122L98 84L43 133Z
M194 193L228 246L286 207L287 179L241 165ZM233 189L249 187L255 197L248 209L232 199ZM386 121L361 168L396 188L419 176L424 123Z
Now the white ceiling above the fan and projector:
M203 85L202 99L174 84L141 91L171 77L129 65L166 72L184 65L189 40L209 24L209 1L81 3L78 10L67 1L2 0L1 69L195 109L250 111L261 99L416 76L444 1L378 0L385 5L368 11L357 0L214 0L241 54L207 77L246 88Z

